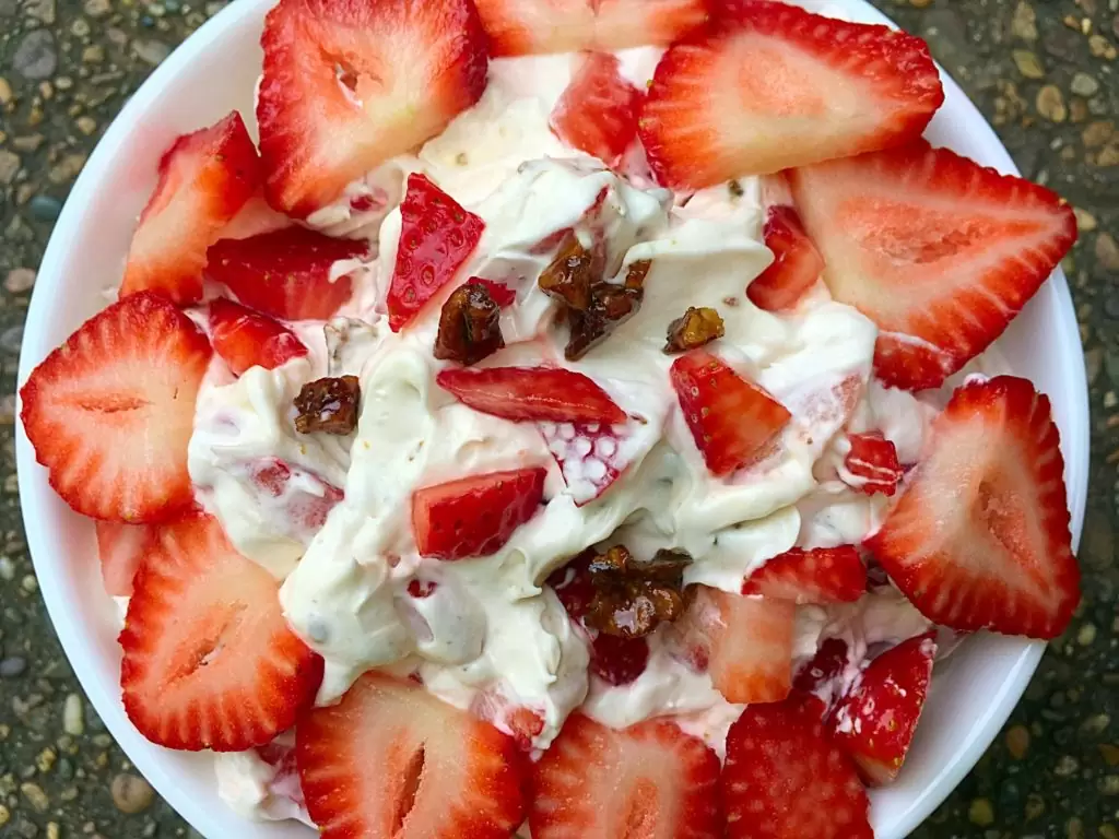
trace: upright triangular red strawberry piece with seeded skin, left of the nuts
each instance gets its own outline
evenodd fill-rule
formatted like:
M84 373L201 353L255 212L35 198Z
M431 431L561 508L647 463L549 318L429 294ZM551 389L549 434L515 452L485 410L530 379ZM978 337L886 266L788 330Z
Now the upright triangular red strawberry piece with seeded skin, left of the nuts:
M408 176L401 242L388 287L388 326L399 332L467 261L486 223L422 175Z

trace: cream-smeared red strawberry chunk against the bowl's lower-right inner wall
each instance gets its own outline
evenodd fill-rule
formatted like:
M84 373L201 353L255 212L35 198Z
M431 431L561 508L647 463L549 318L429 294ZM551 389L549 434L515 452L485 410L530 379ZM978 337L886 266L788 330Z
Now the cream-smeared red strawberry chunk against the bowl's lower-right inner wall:
M887 784L901 772L929 691L934 639L929 632L883 652L836 710L836 743L872 786Z

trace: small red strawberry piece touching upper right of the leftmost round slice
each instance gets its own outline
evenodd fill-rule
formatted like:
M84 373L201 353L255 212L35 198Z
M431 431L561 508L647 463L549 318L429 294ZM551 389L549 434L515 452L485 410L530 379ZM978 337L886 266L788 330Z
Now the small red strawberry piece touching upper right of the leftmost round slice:
M250 367L271 370L308 353L288 327L223 298L210 302L209 321L214 351L234 376Z

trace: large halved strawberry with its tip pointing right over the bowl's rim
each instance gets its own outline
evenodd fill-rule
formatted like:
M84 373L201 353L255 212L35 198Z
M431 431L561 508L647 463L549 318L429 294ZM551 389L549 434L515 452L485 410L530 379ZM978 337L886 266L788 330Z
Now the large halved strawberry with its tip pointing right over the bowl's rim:
M921 141L789 172L831 295L878 324L892 387L939 387L990 345L1076 238L1072 208Z

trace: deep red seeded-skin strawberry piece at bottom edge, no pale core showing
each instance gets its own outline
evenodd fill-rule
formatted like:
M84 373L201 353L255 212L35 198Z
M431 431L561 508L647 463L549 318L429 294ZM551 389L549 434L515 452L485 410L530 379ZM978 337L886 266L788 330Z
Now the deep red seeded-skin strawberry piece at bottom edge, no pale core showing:
M800 697L742 711L722 788L727 839L874 839L854 764Z

